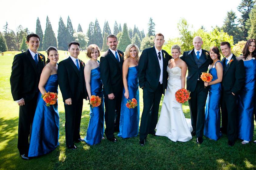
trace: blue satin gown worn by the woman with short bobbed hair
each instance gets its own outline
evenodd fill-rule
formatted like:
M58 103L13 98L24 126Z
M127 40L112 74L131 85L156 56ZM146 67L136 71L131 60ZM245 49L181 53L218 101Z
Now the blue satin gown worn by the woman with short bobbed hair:
M91 94L101 98L98 107L90 107L90 120L85 137L85 142L89 145L100 143L104 133L104 98L100 79L99 67L91 70Z

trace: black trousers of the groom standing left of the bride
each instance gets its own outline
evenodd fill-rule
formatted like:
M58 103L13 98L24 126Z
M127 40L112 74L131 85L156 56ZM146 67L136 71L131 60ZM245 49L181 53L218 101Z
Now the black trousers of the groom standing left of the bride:
M143 88L143 112L140 121L140 140L146 139L149 133L155 133L158 110L163 94L163 84L158 84L157 90L150 92Z

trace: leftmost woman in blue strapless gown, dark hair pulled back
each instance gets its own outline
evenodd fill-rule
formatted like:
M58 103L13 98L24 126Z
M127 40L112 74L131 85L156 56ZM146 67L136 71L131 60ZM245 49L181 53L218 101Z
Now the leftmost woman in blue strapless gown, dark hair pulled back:
M32 124L29 144L29 157L40 156L52 152L59 146L59 112L58 103L46 106L41 98L45 92L58 93L58 60L59 54L55 47L47 50L48 61L39 81L37 106Z

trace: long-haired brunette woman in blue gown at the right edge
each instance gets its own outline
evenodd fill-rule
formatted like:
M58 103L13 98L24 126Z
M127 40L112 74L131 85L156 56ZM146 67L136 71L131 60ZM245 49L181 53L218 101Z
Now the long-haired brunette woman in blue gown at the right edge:
M238 138L243 140L242 144L252 141L253 137L253 112L254 112L254 93L256 77L255 60L256 40L250 39L246 42L243 49L245 67L245 84L237 98L238 105ZM254 58L253 58L254 57Z

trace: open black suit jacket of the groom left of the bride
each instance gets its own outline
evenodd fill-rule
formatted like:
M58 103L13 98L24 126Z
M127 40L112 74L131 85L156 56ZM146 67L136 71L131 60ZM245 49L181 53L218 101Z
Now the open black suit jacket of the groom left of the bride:
M167 87L167 66L168 61L171 56L164 50L162 50L163 55L163 94L165 88ZM160 65L157 59L157 53L155 47L147 48L142 51L139 61L139 85L141 87L146 87L148 91L154 92L157 89L160 78Z

